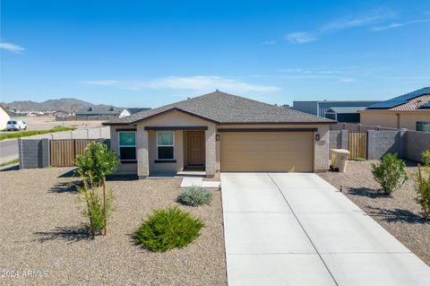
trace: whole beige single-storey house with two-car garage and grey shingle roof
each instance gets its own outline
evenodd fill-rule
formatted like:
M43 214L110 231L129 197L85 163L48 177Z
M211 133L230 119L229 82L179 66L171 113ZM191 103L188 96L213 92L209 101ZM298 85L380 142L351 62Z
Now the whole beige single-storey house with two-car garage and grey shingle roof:
M215 91L103 123L122 164L146 178L202 169L314 172L329 168L334 121Z

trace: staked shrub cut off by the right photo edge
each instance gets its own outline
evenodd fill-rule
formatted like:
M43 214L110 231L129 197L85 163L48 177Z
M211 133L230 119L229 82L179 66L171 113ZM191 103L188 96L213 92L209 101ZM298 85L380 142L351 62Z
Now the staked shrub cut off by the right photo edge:
M423 152L422 158L424 168L418 164L418 173L416 176L415 188L417 190L417 203L426 218L430 215L430 152Z

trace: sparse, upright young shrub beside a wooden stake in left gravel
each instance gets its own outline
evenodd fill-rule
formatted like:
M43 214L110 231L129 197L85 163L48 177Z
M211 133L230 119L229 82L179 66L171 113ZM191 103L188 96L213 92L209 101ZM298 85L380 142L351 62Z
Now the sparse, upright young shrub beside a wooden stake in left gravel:
M91 180L91 178L87 178ZM101 230L106 228L105 221L105 208L103 204L103 197L101 194L101 187L89 187L86 180L83 180L83 186L76 186L80 197L79 200L84 200L86 203L86 209L82 211L82 214L90 220L89 229L92 236L99 234ZM114 212L114 194L112 191L107 192L106 196L106 217L108 218L112 212Z

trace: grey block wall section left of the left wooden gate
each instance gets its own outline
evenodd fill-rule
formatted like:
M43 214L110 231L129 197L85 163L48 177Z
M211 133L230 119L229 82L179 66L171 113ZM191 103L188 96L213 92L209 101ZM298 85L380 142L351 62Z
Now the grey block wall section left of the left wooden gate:
M20 169L49 166L49 139L18 139Z

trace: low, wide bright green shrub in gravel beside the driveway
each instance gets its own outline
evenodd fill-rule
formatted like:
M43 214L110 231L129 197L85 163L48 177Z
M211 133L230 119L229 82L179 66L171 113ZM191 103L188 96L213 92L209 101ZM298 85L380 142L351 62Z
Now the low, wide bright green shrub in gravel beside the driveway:
M190 212L182 211L177 206L169 206L155 210L134 232L133 239L136 244L151 251L165 252L193 242L204 226L204 222L193 217Z

